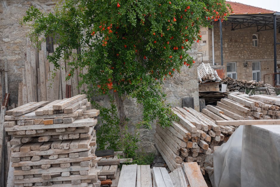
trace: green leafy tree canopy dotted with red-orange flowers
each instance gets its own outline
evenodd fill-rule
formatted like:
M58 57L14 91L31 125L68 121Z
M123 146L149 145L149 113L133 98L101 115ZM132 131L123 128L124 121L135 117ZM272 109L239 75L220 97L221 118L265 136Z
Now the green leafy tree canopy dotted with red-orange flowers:
M59 36L50 61L59 67L67 52L64 58L76 59L69 62L72 70L87 67L80 76L89 95L113 90L136 98L144 107L142 123L150 127L158 119L164 127L174 119L164 101L165 78L183 65L192 67L186 51L201 39L200 26L227 14L224 0L66 0L54 13L29 8L22 23L31 23L35 41L41 34Z

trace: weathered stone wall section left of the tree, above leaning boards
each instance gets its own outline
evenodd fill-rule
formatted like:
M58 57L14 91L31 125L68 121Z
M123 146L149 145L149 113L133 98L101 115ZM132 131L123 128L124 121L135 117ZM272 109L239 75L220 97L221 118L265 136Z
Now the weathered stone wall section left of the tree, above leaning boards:
M27 27L19 24L30 6L50 12L52 0L2 0L0 1L0 67L7 61L8 90L10 104L18 101L18 84L22 81L22 70L26 59Z

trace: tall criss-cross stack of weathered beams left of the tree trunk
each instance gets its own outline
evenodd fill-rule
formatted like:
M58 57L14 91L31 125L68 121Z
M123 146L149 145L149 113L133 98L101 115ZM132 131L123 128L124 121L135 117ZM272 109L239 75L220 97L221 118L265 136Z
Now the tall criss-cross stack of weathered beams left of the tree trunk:
M94 126L85 95L32 102L6 112L15 186L99 186Z

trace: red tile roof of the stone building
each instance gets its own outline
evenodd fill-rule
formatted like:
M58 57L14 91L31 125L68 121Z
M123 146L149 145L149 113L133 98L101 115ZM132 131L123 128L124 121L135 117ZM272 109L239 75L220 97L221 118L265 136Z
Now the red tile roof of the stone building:
M232 1L226 1L227 4L231 5L231 8L233 9L234 13L231 14L259 14L259 13L274 13L273 10L267 10L264 8L254 7L247 4L232 2Z

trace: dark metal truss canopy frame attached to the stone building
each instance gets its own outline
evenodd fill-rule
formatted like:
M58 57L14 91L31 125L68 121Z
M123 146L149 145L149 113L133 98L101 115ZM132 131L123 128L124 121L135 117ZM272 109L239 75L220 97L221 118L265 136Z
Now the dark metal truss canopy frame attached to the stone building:
M280 13L270 14L232 14L228 16L225 25L231 25L231 30L257 27L257 31L272 30L273 16L276 15L276 28L280 29Z

